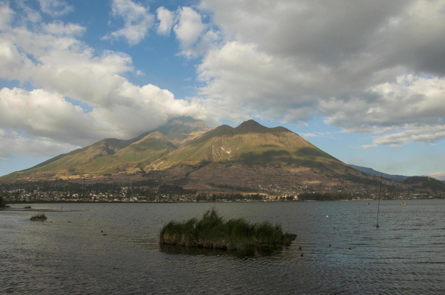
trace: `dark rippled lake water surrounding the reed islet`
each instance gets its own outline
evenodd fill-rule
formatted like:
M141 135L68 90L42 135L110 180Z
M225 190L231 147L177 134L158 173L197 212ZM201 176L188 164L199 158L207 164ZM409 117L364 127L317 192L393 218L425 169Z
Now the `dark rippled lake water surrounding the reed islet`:
M445 200L405 202L381 201L379 228L376 201L31 204L79 211L0 211L0 293L444 294ZM164 223L211 206L297 239L247 253L159 245Z

